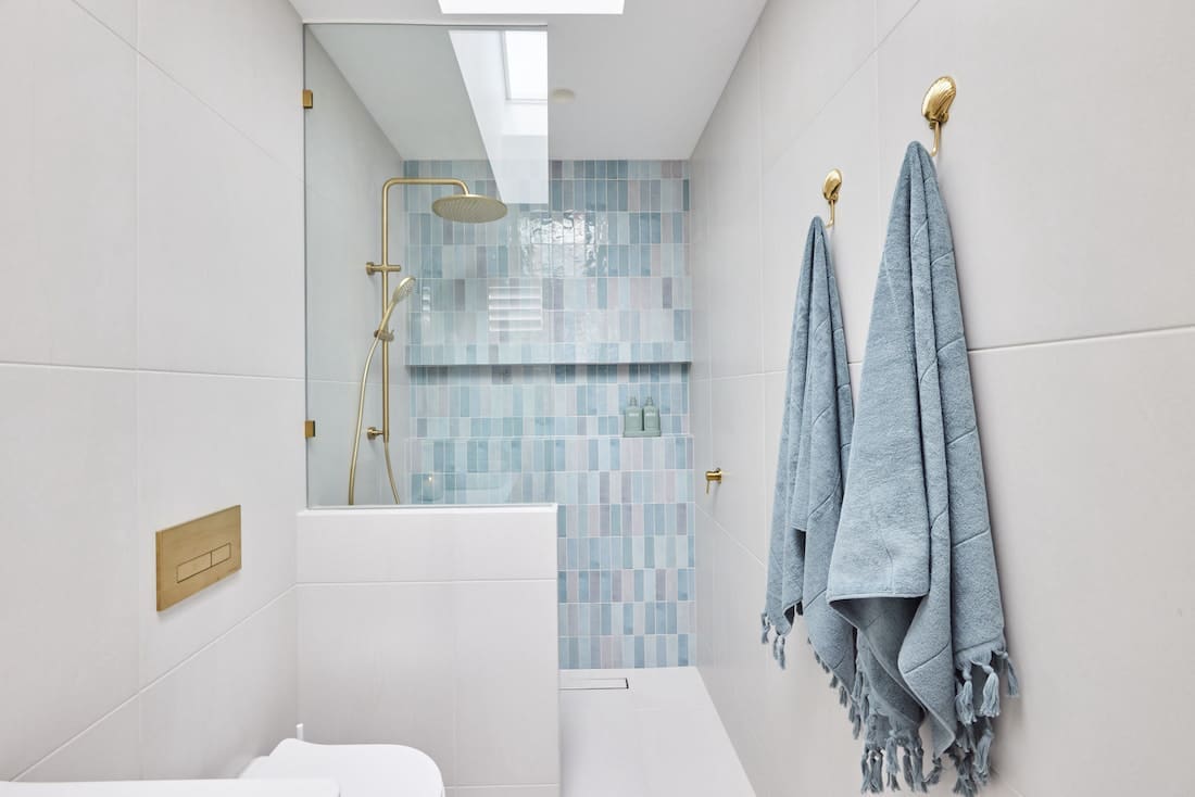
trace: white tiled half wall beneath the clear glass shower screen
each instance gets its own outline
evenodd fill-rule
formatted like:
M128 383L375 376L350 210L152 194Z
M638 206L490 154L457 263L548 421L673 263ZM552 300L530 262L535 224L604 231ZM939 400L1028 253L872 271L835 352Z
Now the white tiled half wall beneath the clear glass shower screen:
M306 737L428 753L449 793L558 795L557 508L299 516Z

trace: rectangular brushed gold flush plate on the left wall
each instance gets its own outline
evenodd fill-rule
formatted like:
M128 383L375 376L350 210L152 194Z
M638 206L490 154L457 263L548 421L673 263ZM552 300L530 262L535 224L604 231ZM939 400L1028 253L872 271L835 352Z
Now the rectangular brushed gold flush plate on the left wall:
M158 611L240 570L240 507L165 528L158 542Z

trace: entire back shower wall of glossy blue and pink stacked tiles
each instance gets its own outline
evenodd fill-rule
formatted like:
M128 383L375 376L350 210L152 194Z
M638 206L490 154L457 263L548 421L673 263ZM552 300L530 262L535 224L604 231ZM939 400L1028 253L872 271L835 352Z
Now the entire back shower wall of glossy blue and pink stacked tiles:
M496 189L478 161L409 176ZM692 661L688 167L553 161L550 207L495 225L404 195L413 503L560 505L562 668ZM663 435L621 437L635 397Z

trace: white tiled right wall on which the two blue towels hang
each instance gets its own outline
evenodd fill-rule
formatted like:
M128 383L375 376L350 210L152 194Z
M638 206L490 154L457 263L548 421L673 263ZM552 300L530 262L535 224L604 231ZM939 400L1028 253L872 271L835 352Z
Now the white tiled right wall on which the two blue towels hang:
M1179 675L1195 669L1191 30L1179 2L764 11L691 163L698 662L760 797L859 789L859 743L801 623L788 670L759 644L805 228L840 168L858 386L901 158L931 141L920 105L942 74L958 98L938 174L1023 687L983 793L1190 792L1175 764L1195 699Z

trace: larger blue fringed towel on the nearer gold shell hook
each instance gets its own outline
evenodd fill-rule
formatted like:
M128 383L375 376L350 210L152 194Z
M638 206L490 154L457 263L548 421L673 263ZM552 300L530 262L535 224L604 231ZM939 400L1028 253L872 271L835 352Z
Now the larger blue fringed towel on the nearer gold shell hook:
M988 780L1000 675L1016 676L988 522L954 244L933 161L912 143L876 287L829 602L858 629L864 789ZM983 678L982 683L975 680ZM921 767L923 719L933 772ZM887 759L887 764L885 764Z

